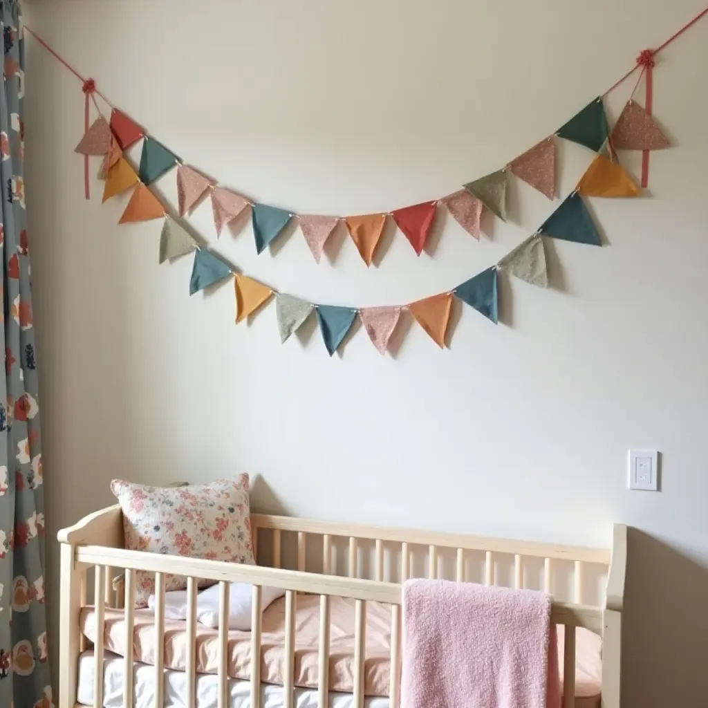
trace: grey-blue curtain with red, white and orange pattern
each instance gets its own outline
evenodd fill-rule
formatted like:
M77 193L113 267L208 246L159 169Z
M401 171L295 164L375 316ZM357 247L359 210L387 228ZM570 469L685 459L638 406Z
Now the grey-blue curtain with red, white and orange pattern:
M24 52L18 0L0 0L0 707L50 708L40 416L23 181Z

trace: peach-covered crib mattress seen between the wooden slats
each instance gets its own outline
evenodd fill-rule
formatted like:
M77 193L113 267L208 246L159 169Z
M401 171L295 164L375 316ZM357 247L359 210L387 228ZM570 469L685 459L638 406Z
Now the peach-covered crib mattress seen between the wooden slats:
M298 595L295 603L295 686L317 687L319 648L319 596ZM333 692L353 691L354 670L354 600L331 598L329 687ZM389 656L391 652L391 607L383 603L366 603L366 658L364 692L370 697L387 697L389 693ZM276 600L265 612L262 622L261 679L282 686L285 646L285 600ZM559 628L562 629L562 628ZM81 612L81 630L96 639L96 616L93 607ZM558 633L561 681L563 671L563 632ZM105 649L123 656L125 622L123 611L105 608ZM165 620L164 666L177 673L186 669L186 623ZM602 639L587 629L576 636L576 706L600 706ZM217 629L197 624L197 672L216 674L219 639ZM152 610L135 610L133 657L136 662L155 663L155 627ZM229 631L229 678L248 683L251 676L251 633ZM177 680L177 679L176 679ZM183 680L183 678L182 678ZM282 691L281 691L282 693ZM305 699L303 699L305 700ZM307 702L305 703L307 704ZM339 708L339 707L338 707Z

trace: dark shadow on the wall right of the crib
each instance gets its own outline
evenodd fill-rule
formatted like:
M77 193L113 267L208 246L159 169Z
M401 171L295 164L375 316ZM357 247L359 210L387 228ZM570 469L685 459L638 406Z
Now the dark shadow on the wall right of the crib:
M630 528L622 708L708 704L708 559Z

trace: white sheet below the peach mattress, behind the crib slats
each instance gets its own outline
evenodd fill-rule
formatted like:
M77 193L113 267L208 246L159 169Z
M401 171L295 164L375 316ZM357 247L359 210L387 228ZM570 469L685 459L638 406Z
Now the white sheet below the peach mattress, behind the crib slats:
M93 650L84 651L79 658L79 686L76 701L93 705ZM133 663L135 708L153 708L155 695L155 667L136 661ZM164 708L185 708L186 674L166 669L164 672ZM123 658L110 651L103 658L103 707L122 708ZM197 675L196 708L217 708L219 679L214 674ZM367 698L366 708L389 708L388 698ZM261 684L262 708L282 708L283 689L267 683ZM251 683L229 679L229 708L251 708ZM317 692L296 688L295 708L317 708ZM354 708L350 693L329 694L329 708Z

